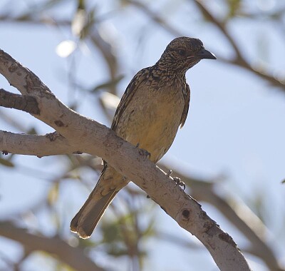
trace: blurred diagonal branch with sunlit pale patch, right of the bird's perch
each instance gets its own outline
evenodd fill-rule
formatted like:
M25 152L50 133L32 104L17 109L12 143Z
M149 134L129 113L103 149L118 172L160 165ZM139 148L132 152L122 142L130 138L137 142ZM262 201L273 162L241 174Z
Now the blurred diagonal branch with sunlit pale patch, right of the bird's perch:
M167 170L169 167L160 163L160 168ZM225 196L217 195L215 192L217 189L215 188L217 188L218 184L215 184L214 180L192 178L175 170L173 170L172 174L185 182L187 187L190 188L193 198L199 202L203 201L213 205L232 225L237 227L237 229L247 237L247 240L250 241L250 246L249 249L242 248L243 251L260 257L269 267L269 270L284 270L281 269L277 262L271 247L266 244L266 240L264 239L266 233L265 225L251 211L243 210L241 212L237 210L237 208L245 209L244 204L238 203L234 198L231 198L230 204ZM249 218L247 218L247 216Z

